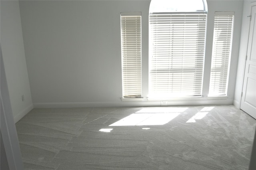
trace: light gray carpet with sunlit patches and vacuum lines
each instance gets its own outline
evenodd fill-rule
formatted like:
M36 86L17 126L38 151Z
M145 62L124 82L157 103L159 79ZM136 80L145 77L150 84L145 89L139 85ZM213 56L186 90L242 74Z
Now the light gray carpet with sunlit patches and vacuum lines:
M255 126L233 105L33 109L16 123L27 170L246 170Z

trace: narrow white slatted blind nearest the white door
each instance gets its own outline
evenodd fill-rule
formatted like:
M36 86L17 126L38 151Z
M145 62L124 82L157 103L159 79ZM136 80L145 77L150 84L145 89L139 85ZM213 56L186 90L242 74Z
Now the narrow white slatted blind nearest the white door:
M215 12L209 95L226 95L234 12Z

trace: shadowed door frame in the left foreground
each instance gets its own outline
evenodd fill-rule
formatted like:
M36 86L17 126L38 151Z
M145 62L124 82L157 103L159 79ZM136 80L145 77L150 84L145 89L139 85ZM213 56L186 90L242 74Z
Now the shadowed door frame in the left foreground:
M5 168L9 168L10 170L23 170L24 167L22 162L22 155L20 152L18 135L12 114L12 107L10 103L10 95L7 86L1 45L0 68L0 130L2 137L1 140L3 142L2 146L4 147L6 154L1 156L4 156L4 158L7 160L7 162L4 162L5 164L2 166L4 166Z

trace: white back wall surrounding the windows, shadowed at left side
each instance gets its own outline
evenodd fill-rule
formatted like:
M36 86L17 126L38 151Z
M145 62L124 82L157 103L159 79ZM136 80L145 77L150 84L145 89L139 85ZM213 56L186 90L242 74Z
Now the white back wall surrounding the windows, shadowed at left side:
M231 61L232 75L235 75L243 2L207 2L206 68L210 67L214 12L235 11L236 28ZM120 100L120 12L142 12L142 96L147 97L149 5L149 0L20 1L34 106L138 105L139 102ZM209 72L206 71L205 77L209 80ZM172 104L232 104L235 78L230 77L229 97L225 100L206 101L205 97L199 101L189 99ZM206 92L203 95L206 96ZM160 102L143 103L159 104Z

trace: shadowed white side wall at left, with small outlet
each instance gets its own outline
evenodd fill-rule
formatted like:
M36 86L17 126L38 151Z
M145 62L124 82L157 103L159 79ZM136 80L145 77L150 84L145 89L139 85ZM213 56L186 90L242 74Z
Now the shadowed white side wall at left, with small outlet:
M1 47L12 113L17 122L33 109L18 1L1 0Z

